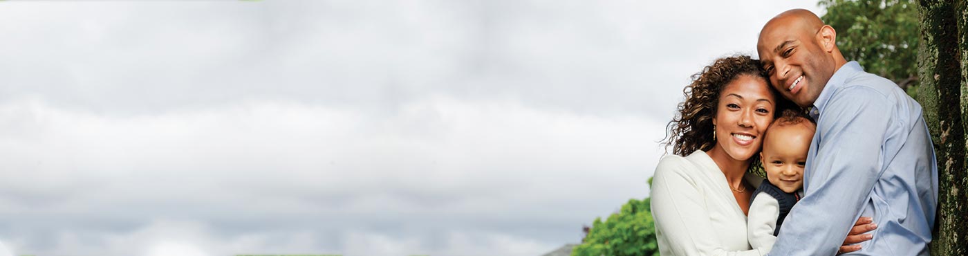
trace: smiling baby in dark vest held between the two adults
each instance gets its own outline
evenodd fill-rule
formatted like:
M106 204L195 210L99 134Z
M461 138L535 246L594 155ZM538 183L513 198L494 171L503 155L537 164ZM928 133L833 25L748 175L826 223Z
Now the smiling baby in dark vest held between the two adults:
M787 110L773 120L763 138L760 161L769 182L753 192L747 219L749 245L770 251L790 208L803 196L803 165L816 124L800 112Z

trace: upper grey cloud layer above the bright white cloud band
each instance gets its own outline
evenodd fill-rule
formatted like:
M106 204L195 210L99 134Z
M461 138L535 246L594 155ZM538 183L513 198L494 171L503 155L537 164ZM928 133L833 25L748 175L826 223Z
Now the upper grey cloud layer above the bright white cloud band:
M0 98L41 94L65 108L105 114L249 99L393 114L445 92L666 118L669 111L657 110L672 109L678 98L666 95L679 95L688 75L717 56L755 53L759 24L776 10L802 6L696 5L11 3L0 10L8 37L0 47L17 50L0 51L8 60L0 68L10 71L0 77Z

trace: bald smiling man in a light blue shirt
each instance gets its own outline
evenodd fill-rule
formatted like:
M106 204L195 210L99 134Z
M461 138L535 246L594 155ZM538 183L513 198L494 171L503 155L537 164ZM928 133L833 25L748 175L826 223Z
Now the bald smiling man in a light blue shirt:
M860 216L877 230L856 255L928 255L938 196L921 105L891 80L863 72L836 31L806 10L773 17L757 51L780 93L817 120L804 196L771 255L834 255ZM856 247L853 247L856 248Z

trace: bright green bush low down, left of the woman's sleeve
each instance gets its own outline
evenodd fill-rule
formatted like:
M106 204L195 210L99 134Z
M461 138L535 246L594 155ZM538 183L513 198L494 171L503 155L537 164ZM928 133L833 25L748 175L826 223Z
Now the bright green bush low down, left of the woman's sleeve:
M652 179L649 178L651 184ZM650 198L630 199L621 210L604 222L595 218L585 241L571 251L572 256L659 255L655 241Z

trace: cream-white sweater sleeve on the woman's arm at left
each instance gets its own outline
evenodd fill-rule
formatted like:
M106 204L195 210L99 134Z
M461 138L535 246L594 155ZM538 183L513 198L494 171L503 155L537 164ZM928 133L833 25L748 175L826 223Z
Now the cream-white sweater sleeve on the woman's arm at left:
M706 199L695 180L686 176L684 161L679 158L663 158L652 178L651 210L659 236L668 244L673 255L709 256L760 256L759 250L726 251L716 238L710 220ZM764 252L765 253L765 252Z

